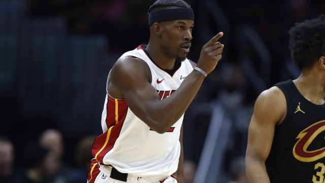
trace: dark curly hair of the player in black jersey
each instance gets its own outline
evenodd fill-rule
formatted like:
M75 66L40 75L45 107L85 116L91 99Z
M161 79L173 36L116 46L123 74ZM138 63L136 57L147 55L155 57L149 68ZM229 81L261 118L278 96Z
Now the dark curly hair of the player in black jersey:
M296 65L311 68L325 53L325 15L296 23L288 32L291 58Z

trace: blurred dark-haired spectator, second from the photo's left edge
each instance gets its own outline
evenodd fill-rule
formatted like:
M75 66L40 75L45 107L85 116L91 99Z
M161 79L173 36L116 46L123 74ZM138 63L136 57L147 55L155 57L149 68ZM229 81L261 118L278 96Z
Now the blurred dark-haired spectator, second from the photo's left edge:
M13 183L43 183L48 175L48 155L49 150L37 141L27 143L24 150L27 170L15 176Z

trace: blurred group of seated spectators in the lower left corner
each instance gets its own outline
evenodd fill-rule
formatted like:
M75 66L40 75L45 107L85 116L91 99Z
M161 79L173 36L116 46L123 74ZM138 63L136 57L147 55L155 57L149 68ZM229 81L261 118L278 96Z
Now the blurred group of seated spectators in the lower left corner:
M64 143L62 134L54 129L44 131L38 140L23 144L23 163L15 167L15 148L12 141L0 137L0 182L85 182L92 159L90 148L94 136L82 138L75 146L72 157L75 167L66 164L62 157Z

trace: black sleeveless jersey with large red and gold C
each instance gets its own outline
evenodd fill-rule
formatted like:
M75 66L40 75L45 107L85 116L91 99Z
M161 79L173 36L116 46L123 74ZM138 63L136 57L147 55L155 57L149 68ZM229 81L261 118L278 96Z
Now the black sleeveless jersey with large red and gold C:
M308 101L292 80L275 86L285 96L287 114L266 160L271 183L325 182L325 104Z

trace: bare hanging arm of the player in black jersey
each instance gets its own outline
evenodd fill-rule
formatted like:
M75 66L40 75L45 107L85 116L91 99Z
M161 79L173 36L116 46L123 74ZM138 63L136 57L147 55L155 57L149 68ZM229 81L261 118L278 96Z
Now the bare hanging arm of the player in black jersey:
M269 183L265 161L273 142L275 126L286 114L285 97L278 87L264 91L256 100L248 129L246 173L251 183Z

